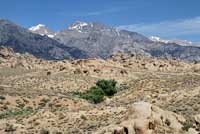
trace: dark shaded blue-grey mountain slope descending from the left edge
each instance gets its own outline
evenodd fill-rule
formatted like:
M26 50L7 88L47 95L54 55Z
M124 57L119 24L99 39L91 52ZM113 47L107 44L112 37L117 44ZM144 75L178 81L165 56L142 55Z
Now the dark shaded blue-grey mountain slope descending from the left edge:
M67 47L47 36L30 32L8 20L0 20L0 45L15 52L31 53L44 59L86 58L88 55L75 47Z

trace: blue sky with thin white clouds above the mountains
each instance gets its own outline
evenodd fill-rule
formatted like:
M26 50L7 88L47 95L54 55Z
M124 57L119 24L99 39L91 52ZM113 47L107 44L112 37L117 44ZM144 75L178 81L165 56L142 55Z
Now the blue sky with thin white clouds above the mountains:
M200 0L0 0L0 18L53 31L100 22L164 39L200 42Z

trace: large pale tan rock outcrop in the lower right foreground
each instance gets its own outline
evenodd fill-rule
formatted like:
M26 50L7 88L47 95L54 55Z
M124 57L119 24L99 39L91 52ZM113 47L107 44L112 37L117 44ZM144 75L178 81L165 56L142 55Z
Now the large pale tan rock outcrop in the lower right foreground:
M182 116L150 103L138 102L130 107L125 120L119 126L109 127L107 133L154 134L158 127L170 128L178 133L183 127L181 122L185 122Z

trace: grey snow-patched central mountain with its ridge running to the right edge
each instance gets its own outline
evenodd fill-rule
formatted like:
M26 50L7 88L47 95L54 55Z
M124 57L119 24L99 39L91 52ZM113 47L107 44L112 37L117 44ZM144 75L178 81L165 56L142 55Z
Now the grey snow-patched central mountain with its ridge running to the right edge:
M181 46L174 42L158 42L126 30L100 23L77 21L63 31L56 32L54 39L69 47L77 47L94 57L108 58L121 51L134 55L173 57L200 61L200 48Z

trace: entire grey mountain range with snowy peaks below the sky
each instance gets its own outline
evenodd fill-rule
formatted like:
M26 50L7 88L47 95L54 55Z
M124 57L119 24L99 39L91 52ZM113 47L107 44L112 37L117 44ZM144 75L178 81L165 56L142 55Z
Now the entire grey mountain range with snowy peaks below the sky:
M200 61L200 47L156 41L136 32L96 22L76 21L52 32L39 24L29 29L0 20L0 45L44 59L108 58L115 52Z

